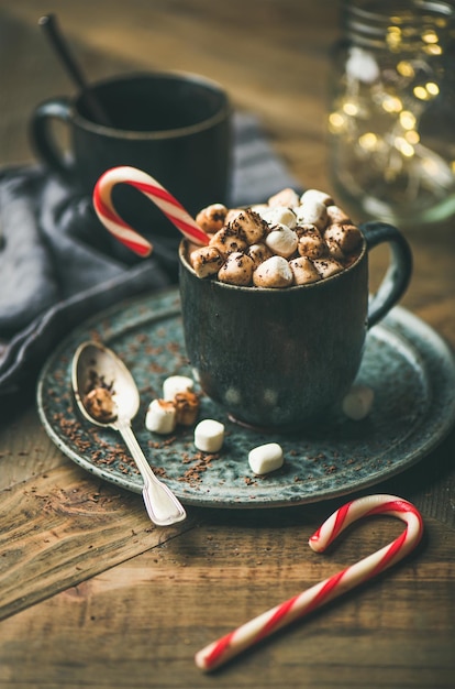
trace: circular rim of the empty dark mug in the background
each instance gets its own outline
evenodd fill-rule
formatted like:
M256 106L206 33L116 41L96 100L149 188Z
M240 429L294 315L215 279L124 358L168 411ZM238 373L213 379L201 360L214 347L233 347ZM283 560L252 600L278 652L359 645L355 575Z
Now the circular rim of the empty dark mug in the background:
M131 139L131 140L166 140L188 136L202 132L207 129L211 129L215 124L226 120L232 113L232 105L228 91L218 81L210 79L206 76L193 72L185 72L177 69L162 69L152 72L133 72L124 75L116 75L95 81L91 87L96 90L98 87L109 86L112 84L122 84L125 81L140 80L140 79L174 79L176 81L195 84L202 86L212 94L218 94L221 97L221 106L219 110L195 124L187 124L185 127L165 129L159 131L135 131L129 129L119 129L116 127L110 127L93 122L85 117L78 109L80 101L84 99L84 94L80 91L71 99L73 120L79 127L85 130L103 134L104 136L111 136L113 139Z

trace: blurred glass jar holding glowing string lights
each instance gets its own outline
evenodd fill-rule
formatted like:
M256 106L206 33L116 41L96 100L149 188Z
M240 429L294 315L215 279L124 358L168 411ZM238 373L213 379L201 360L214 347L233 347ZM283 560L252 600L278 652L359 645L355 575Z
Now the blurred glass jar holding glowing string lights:
M340 203L399 227L455 214L455 6L342 2L330 166Z

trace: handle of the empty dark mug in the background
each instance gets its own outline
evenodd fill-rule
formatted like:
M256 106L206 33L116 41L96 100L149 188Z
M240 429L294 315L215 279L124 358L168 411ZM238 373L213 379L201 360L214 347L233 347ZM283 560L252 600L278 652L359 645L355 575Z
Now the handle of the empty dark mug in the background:
M65 157L64 151L57 144L52 130L53 120L60 120L69 124L71 106L69 98L60 97L45 100L33 112L30 124L32 145L41 161L51 169L63 176L73 173L70 161Z

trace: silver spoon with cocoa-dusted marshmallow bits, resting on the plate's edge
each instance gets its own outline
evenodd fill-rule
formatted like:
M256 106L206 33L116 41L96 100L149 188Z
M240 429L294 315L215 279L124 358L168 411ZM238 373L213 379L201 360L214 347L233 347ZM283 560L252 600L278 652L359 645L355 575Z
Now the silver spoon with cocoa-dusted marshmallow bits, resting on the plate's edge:
M73 359L71 383L85 418L97 426L113 428L122 436L143 478L142 494L152 522L167 526L185 520L185 508L156 478L131 428L140 395L123 361L98 342L82 342Z

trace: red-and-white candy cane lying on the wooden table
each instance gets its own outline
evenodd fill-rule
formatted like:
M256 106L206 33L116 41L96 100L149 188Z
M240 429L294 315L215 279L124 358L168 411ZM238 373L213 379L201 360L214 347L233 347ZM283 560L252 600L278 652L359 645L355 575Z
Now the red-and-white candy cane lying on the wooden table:
M370 495L348 502L322 524L311 536L309 545L314 551L323 553L349 524L375 514L396 516L406 522L407 527L388 546L210 644L196 654L196 665L202 670L213 670L273 632L371 579L415 548L423 533L422 517L411 503L393 495Z

